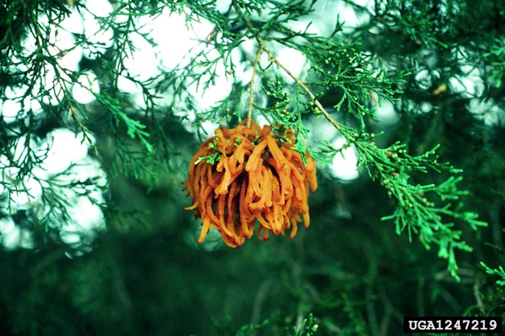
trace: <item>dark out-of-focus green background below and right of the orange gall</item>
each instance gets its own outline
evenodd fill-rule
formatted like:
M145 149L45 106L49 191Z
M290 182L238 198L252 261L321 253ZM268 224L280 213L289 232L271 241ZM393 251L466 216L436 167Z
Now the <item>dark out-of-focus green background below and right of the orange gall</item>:
M430 21L422 19L441 1L376 2L393 3L408 6L401 15L385 10L346 38L360 38L362 50L410 72L395 105L399 121L384 126L367 120L385 131L377 144L407 142L413 155L441 144L441 160L464 170L460 184L470 191L465 210L489 223L477 232L464 230L474 251L457 253L459 283L436 248L426 250L418 235L409 242L407 233L396 235L391 222L380 220L395 204L378 182L362 173L344 183L323 166L309 197L311 226L294 239L254 237L232 249L211 233L197 244L200 223L183 210L191 200L181 183L199 142L170 115L160 125L172 148L166 163L153 167L158 182L151 187L142 178L110 178L109 227L91 252L68 258L67 247L51 239L34 250L0 251L0 335L301 335L296 330L312 313L316 321L306 323L311 331L304 335L375 336L401 334L409 315L503 316L505 289L479 265L505 264L503 116L485 123L469 111L468 97L433 91L461 75L455 50L444 43L465 47L475 66L486 70L483 76L498 78L479 99L503 108L505 86L496 74L505 69L499 58L505 51L485 54L505 36L505 4L447 1L460 11ZM373 26L382 27L381 34ZM426 50L436 64L428 64ZM427 89L416 81L422 69L440 75ZM322 98L328 105L332 99ZM420 113L426 102L433 108ZM55 120L48 117L42 126L51 128ZM91 115L88 122L105 168L115 151L107 120ZM414 176L420 183L447 177Z

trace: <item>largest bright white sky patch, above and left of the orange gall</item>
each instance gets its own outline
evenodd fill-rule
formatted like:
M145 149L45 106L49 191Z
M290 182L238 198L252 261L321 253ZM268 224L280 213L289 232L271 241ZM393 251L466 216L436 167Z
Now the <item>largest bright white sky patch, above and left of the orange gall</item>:
M120 20L123 18L120 17ZM142 16L135 19L137 31L147 34L147 39L156 44L152 45L139 33L129 34L132 47L127 47L123 62L125 72L118 78L118 89L132 94L132 102L138 108L145 108L141 88L127 77L145 82L162 72L182 69L188 65L198 52L207 47L206 43L200 43L198 40L204 40L214 29L214 25L209 21L202 18L198 20L186 24L186 14L171 13L168 8L155 17ZM215 53L217 54L217 51ZM211 59L217 57L213 50L210 50L207 56ZM210 82L210 75L207 74L204 74L198 86L196 83L188 83L188 93L193 96L199 109L208 109L229 95L233 80L232 76L227 74L228 71L229 69L219 63L218 76L215 77L214 83ZM208 88L204 91L206 84ZM172 100L172 93L169 91L157 99L156 103L163 106L170 104ZM194 118L189 116L189 119Z

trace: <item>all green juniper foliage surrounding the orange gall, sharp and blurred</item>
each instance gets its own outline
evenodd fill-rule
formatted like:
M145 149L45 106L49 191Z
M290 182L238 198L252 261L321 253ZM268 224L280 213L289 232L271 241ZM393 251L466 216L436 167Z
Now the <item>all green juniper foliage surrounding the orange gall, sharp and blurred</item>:
M67 2L0 4L0 99L10 99L7 87L31 90L51 66L62 90L39 116L0 116L0 219L15 217L38 243L0 253L0 334L376 336L400 334L405 315L505 316L505 3L334 1L367 19L349 29L350 19L339 17L325 35L308 23L293 28L325 18L320 1L233 0L221 11L203 0L114 2L99 18L103 31L114 31L114 47L78 71L60 66L61 52L37 23L46 15L58 26ZM164 10L214 28L187 62L141 80L128 73L131 37L154 48L137 19ZM28 34L36 43L26 53L20 41ZM92 44L74 35L75 48ZM304 55L306 68L288 69L282 47ZM239 76L242 63L254 83ZM80 104L71 86L86 69L100 92ZM199 106L188 86L210 89L223 69L229 95ZM120 75L140 88L141 103L118 90ZM42 101L51 94L38 93ZM388 104L396 123L381 122ZM249 111L295 129L295 149L321 164L311 226L293 240L252 238L231 249L211 232L198 245L200 222L183 210L191 201L181 191L195 134L204 141L212 136L206 123L234 127ZM36 223L32 210L10 208L11 194L28 191L23 179L49 151L32 151L30 141L63 126L89 143L109 178L98 185L108 231L73 259L49 223L69 220L65 188L86 195L98 178L44 180L51 207ZM23 155L11 151L18 144ZM362 173L352 182L325 166L347 149L357 151ZM19 173L8 179L11 168Z

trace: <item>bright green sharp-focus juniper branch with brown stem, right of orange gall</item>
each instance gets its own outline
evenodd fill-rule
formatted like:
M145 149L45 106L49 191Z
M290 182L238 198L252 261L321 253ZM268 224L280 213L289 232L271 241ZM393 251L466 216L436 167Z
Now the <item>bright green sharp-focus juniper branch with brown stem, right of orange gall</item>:
M387 149L380 149L373 141L374 136L363 131L364 120L360 117L362 123L362 130L357 132L355 129L341 125L334 120L328 111L324 108L321 102L317 99L316 95L295 76L289 69L280 62L271 49L267 46L264 38L261 36L262 29L257 29L247 17L244 15L236 3L232 2L239 17L242 18L248 31L254 35L254 38L260 46L260 50L267 52L270 60L275 63L284 73L286 73L298 87L300 87L315 104L316 108L314 113L322 113L325 118L341 133L346 139L345 146L354 144L360 154L361 165L365 165L367 171L372 178L379 177L381 184L388 190L389 197L394 197L396 200L396 210L390 215L383 217L382 220L393 219L396 225L396 233L400 234L403 229L408 228L409 239L412 240L411 231L420 234L420 240L423 245L429 249L431 243L439 245L439 257L448 260L447 269L450 274L459 280L457 274L458 265L456 263L455 248L471 251L472 248L461 240L461 231L453 230L454 223L444 223L443 217L461 220L470 225L474 230L479 226L486 226L487 224L478 221L477 215L471 212L460 212L461 206L452 210L450 203L445 203L440 206L435 205L435 201L429 201L424 195L425 193L432 192L440 197L443 202L447 199L456 200L461 195L465 195L466 191L458 190L456 184L461 178L450 177L445 182L435 185L413 185L409 182L411 172L424 172L428 169L435 171L446 170L450 173L459 173L458 170L448 164L437 163L437 156L435 149L425 153L424 155L413 157L407 154L405 145L394 144ZM303 48L302 48L303 49ZM352 62L350 62L352 63ZM317 69L316 69L317 70ZM330 83L328 83L330 84ZM325 85L328 85L325 84ZM340 84L335 83L335 86ZM368 92L372 85L365 85ZM346 89L344 88L344 95L337 106L341 106L344 99L356 100L353 96L352 99L347 97ZM392 94L394 91L385 90L384 92L377 91L379 96L386 96ZM286 100L284 98L284 100ZM349 107L352 107L349 102ZM361 106L359 109L364 109ZM366 108L365 108L366 109ZM366 114L362 111L360 114ZM338 150L335 150L337 152ZM370 169L371 166L372 168Z

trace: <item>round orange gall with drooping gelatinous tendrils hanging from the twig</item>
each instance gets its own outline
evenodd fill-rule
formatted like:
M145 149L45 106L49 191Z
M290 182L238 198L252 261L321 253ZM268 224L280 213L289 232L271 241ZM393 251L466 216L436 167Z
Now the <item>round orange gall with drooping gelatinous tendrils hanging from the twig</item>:
M201 218L198 242L204 241L210 228L219 230L224 242L231 247L244 243L260 223L258 238L289 234L293 238L297 224L304 218L309 227L309 186L316 191L316 164L305 154L293 149L295 132L287 129L278 134L269 125L261 128L251 121L236 128L216 129L216 136L208 139L189 164L189 176L184 181L193 205L195 218ZM215 146L209 146L215 145ZM215 148L215 149L213 149ZM219 161L209 163L203 157L220 153Z

